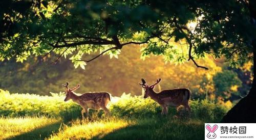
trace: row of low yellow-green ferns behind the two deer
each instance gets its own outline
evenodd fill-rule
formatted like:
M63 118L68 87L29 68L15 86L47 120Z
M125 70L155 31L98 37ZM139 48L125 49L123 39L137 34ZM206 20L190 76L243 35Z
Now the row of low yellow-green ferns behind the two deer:
M61 93L52 93L52 96L39 96L10 94L8 91L0 90L0 116L46 116L64 120L81 118L81 107L73 101L64 102L64 98ZM190 107L190 117L209 122L219 121L229 109L208 100L190 101ZM158 117L162 110L162 107L152 99L143 99L141 96L133 97L131 94L112 97L108 108L110 108L112 116L119 118ZM172 107L168 110L171 116L184 115L184 107L179 109L179 112ZM100 111L96 116L101 117L102 112Z

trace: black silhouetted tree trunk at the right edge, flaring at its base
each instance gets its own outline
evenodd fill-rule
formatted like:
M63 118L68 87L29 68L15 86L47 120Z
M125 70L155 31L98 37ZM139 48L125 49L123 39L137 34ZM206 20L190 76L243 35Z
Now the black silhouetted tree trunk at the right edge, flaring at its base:
M256 25L256 2L249 1L251 23ZM222 123L256 123L256 39L252 40L253 46L253 80L252 87L246 97L241 99L221 120Z

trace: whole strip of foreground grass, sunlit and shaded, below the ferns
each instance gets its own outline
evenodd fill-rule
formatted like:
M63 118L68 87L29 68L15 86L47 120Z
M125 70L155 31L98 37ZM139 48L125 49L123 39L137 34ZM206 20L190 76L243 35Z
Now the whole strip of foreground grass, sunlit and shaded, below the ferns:
M173 117L117 119L60 124L49 118L1 118L0 139L203 139L204 122Z

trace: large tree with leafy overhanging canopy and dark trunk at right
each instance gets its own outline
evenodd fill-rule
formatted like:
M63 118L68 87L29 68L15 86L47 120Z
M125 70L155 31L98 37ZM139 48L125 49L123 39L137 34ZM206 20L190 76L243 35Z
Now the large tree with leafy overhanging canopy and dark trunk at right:
M210 54L230 65L256 62L255 2L226 1L72 1L0 2L0 60L24 61L55 52L56 63L71 55L75 67L104 53L116 56L128 44L140 44L142 56L166 61L193 61ZM187 53L172 42L186 43ZM98 55L91 52L100 51ZM255 63L254 63L255 64ZM253 70L255 73L255 69ZM223 122L256 122L256 81Z

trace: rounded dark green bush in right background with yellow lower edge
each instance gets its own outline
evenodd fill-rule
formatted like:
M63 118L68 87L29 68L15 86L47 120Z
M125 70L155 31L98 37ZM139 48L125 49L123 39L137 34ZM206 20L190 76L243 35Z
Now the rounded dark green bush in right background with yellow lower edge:
M239 95L238 88L242 85L237 73L231 70L224 70L217 73L214 78L216 94L224 98L229 98L231 94Z

